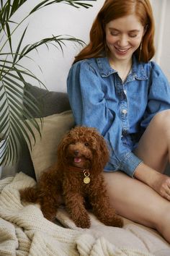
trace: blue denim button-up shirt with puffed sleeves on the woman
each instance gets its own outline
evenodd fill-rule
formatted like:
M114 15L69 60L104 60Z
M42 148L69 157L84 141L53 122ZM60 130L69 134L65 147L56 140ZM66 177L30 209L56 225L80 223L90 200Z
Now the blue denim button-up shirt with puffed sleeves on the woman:
M68 98L77 125L96 127L107 141L110 158L104 171L133 176L142 161L133 150L153 116L170 108L170 86L158 65L133 66L125 82L107 58L78 61L67 79Z

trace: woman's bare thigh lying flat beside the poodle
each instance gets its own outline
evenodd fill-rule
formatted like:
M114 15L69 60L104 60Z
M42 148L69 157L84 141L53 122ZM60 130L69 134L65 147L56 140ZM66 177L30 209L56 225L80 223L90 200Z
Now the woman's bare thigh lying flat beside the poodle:
M170 212L168 200L143 182L121 171L104 172L104 180L107 184L110 203L120 216L159 229L158 225L162 225L162 217L164 216L165 220L165 213L167 214L168 209ZM167 218L170 224L170 216Z

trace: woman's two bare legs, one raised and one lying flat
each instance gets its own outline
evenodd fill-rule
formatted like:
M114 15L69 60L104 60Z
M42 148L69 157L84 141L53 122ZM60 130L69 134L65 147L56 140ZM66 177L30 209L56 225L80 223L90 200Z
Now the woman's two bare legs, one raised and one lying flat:
M164 171L170 150L170 111L156 115L135 154L157 171ZM163 174L162 174L163 175ZM170 242L170 202L151 187L120 171L105 172L110 202L121 216L157 229ZM154 218L153 218L154 216Z

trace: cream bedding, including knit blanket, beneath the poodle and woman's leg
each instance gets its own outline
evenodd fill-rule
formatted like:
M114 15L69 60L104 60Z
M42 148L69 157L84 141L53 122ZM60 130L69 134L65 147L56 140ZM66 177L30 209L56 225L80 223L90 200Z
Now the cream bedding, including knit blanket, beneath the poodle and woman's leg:
M63 228L42 216L39 205L22 204L19 189L34 179L19 173L0 180L0 255L168 256L170 245L159 234L125 219L123 229L104 226L91 213L91 228L80 229L66 210L57 213Z

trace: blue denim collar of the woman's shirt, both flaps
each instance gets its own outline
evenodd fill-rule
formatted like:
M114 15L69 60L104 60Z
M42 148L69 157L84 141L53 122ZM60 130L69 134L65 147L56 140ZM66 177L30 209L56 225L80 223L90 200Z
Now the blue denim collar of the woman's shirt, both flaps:
M107 57L103 58L97 58L97 65L99 67L99 72L102 77L108 77L110 74L114 74L117 71L115 69L112 69L112 67L109 66L109 60ZM146 71L143 68L143 63L140 63L136 60L135 56L133 55L133 66L130 72L130 77L132 80L147 80L148 77L146 75Z

